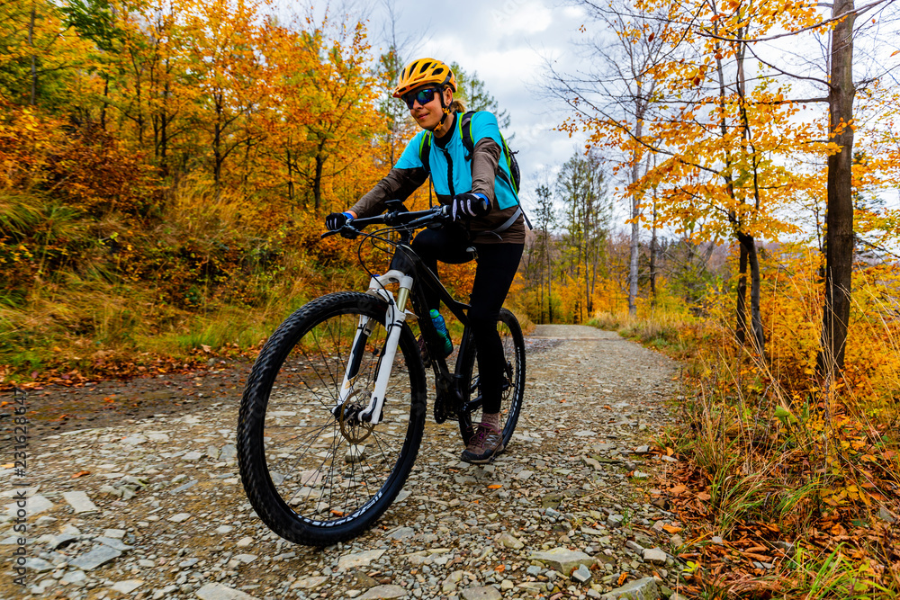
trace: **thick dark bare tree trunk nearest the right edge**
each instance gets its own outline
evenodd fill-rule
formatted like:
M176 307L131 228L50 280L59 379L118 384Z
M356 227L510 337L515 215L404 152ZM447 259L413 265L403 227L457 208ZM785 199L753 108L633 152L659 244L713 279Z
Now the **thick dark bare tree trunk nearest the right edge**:
M825 299L822 345L817 357L824 376L842 370L850 321L853 271L853 0L835 0L834 17L846 15L832 31L828 117L831 141L840 151L828 157L828 212L825 215Z

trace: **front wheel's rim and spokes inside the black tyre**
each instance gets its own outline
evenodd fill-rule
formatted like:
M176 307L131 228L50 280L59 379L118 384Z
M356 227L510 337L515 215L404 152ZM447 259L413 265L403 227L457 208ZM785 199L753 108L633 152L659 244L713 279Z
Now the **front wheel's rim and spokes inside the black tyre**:
M387 332L369 318L354 392L338 408L359 314L333 314L310 327L284 360L268 399L266 468L275 492L304 522L336 526L363 515L398 477L408 445L412 376L401 348L392 365L382 421L356 418L368 404Z

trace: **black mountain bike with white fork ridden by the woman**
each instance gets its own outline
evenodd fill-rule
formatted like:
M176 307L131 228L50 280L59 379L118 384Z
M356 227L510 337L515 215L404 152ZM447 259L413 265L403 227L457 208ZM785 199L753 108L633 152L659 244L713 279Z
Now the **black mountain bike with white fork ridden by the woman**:
M419 452L428 395L410 321L418 322L431 357L435 421L455 419L464 443L480 423L468 305L446 291L410 246L416 229L449 219L446 207L410 212L392 201L383 215L324 234L363 237L357 254L371 276L368 290L311 300L260 351L240 402L238 464L250 504L284 539L314 546L346 541L374 524L403 488ZM386 227L363 231L373 225ZM387 273L365 267L366 242L392 255ZM428 314L426 288L464 325L452 371ZM500 410L506 447L522 408L525 342L509 310L501 309L497 327L506 359Z

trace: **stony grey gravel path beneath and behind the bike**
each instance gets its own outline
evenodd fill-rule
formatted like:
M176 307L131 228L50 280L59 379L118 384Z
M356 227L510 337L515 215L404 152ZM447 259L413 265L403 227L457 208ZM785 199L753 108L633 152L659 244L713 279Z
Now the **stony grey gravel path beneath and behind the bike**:
M0 470L0 506L13 509L0 515L0 597L672 595L679 524L653 480L674 460L649 451L672 422L675 365L591 327L538 326L527 348L508 452L467 465L455 424L429 417L400 501L324 550L284 542L251 511L234 391L186 415L42 436L28 465L28 587L13 581L14 477Z

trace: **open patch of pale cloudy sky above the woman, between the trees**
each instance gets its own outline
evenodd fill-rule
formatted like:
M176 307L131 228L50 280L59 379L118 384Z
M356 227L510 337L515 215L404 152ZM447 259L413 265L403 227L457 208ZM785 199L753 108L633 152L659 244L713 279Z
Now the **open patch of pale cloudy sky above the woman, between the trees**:
M393 6L397 39L407 42L404 58L455 61L466 73L477 72L500 110L509 112L509 131L503 133L515 134L510 146L519 152L527 198L545 167L558 168L584 148L581 139L554 131L567 113L539 90L545 57L571 56L570 40L583 23L579 10L554 0L395 0ZM374 0L369 34L376 53L386 48L388 22L384 4Z

